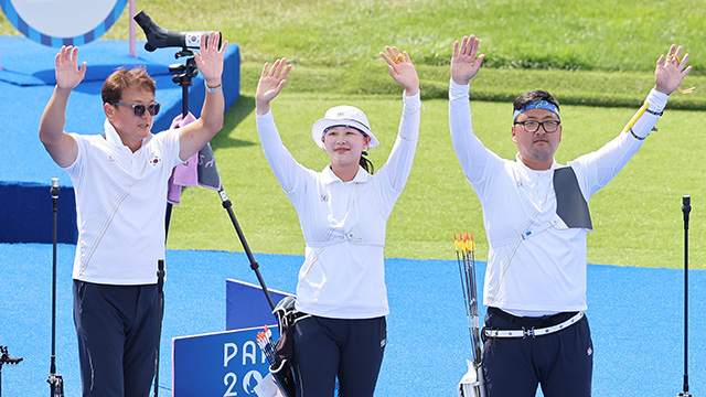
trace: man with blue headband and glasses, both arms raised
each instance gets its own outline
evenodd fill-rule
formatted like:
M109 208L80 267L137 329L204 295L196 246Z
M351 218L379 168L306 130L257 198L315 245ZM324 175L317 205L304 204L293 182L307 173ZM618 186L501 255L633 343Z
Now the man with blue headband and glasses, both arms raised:
M567 165L554 159L561 141L559 104L543 90L514 103L512 141L501 159L473 135L469 83L484 55L479 40L453 46L449 119L453 149L483 207L489 242L482 336L488 395L590 396L593 347L586 304L588 201L623 168L653 130L668 95L691 72L672 45L655 85L625 130ZM478 55L478 56L477 56Z

